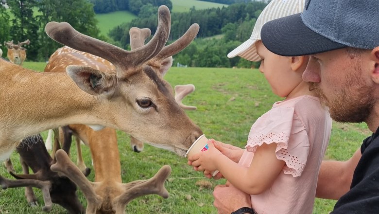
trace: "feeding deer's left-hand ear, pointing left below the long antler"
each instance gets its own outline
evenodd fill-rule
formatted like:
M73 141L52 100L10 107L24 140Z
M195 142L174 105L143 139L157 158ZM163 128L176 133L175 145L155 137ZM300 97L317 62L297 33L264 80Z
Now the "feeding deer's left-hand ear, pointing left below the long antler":
M116 87L116 75L90 67L70 65L66 72L80 89L91 95L113 94Z

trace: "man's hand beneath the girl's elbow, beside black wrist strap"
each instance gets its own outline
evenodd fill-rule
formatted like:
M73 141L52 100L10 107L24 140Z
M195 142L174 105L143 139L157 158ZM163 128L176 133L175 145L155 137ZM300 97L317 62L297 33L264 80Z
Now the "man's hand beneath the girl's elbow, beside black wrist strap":
M217 185L213 191L213 205L219 214L231 214L241 207L251 207L250 195L235 188L226 182L225 185Z

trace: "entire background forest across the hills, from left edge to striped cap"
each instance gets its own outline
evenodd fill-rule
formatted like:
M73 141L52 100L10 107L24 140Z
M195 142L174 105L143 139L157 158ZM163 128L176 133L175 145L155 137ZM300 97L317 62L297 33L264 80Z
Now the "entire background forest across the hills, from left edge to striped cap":
M104 3L105 1L113 2L113 4ZM191 67L250 68L258 66L257 63L240 57L229 59L226 54L250 37L256 19L267 3L243 0L209 1L230 4L222 8L205 10L191 8L186 13L171 14L172 26L168 43L182 36L191 24L200 25L197 38L189 47L173 56L174 64L179 63ZM11 39L15 42L30 39L31 43L27 46L29 61L47 61L50 54L61 47L42 33L49 21L69 22L73 28L83 34L130 50L129 29L131 27L150 28L154 35L158 5L165 4L172 8L170 0L7 0L7 3L8 10L0 6L1 43ZM138 7L138 11L132 9L140 3L143 6ZM103 8L96 5L102 5ZM108 34L109 37L101 36L95 11L110 10L109 8L113 8L113 11L125 9L134 11L133 13L136 13L138 18L112 29Z

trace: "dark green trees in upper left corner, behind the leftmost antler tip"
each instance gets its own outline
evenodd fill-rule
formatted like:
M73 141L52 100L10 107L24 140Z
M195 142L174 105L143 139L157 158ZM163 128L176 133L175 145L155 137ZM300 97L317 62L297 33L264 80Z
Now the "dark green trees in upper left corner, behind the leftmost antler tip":
M88 0L7 0L9 10L0 6L0 39L4 41L30 40L27 60L46 61L62 45L45 33L50 21L66 21L77 31L88 36L100 36L93 4ZM37 15L36 15L37 14ZM6 47L1 47L6 53Z

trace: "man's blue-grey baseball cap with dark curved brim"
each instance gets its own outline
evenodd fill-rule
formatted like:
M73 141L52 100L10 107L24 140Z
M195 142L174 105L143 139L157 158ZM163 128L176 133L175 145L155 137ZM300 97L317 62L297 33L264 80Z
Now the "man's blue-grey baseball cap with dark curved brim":
M263 44L275 54L299 56L379 46L379 0L307 0L302 13L263 25Z

